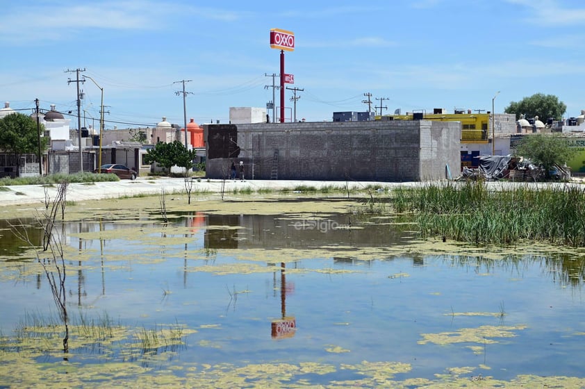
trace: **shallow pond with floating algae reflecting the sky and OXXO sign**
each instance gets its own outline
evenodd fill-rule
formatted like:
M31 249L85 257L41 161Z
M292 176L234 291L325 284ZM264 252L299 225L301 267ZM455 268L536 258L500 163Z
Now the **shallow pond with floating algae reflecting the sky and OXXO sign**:
M575 249L422 241L347 199L199 201L167 222L140 201L58 226L67 353L12 233L42 246L42 230L1 221L1 388L585 386Z

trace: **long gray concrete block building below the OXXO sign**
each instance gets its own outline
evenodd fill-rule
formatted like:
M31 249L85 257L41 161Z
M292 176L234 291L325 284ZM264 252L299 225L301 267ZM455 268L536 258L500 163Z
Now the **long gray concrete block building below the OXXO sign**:
M212 125L213 126L213 125ZM204 126L207 137L208 127ZM279 151L278 179L422 181L459 172L459 122L306 122L237 124L246 177L270 179ZM207 142L209 144L209 142ZM210 153L208 152L208 156ZM206 162L209 178L229 172L231 158Z

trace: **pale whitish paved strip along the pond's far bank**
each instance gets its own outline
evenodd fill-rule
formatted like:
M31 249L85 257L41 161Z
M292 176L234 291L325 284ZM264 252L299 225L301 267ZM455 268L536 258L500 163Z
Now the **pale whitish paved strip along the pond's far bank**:
M221 193L222 191L222 180L201 179L201 181L197 181L197 179L193 179L191 182L192 194L197 192ZM98 183L70 183L69 188L67 188L67 201L114 199L143 194L158 195L161 190L165 190L167 194L186 193L185 185L185 181L182 178L168 177L138 177L135 181L120 180ZM409 185L409 183L349 181L347 185L349 185L349 189L363 189L368 187L368 185L379 185L384 188L389 188L395 185ZM345 181L226 180L224 192L247 188L254 192L258 190L295 190L295 188L299 188L300 186L313 187L318 190L324 187L346 190ZM23 204L44 204L45 190L50 199L56 197L57 185L50 188L44 188L42 185L0 187L0 207Z

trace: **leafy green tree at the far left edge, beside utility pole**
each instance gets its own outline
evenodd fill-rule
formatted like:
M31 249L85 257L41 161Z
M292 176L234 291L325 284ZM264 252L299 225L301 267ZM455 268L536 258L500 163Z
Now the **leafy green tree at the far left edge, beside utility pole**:
M12 113L0 119L0 149L14 156L17 174L23 154L35 154L37 158L42 158L39 142L42 153L49 144L49 138L39 138L39 131L44 133L44 126L40 124L38 129L35 119L22 113Z

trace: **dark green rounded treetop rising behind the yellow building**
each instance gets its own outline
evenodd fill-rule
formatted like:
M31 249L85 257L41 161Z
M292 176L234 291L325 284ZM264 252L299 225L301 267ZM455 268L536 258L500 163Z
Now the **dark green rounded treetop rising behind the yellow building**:
M566 104L553 94L536 93L518 102L512 101L504 112L516 114L516 119L520 119L520 115L525 115L526 118L538 116L545 122L549 117L561 120L566 110Z

